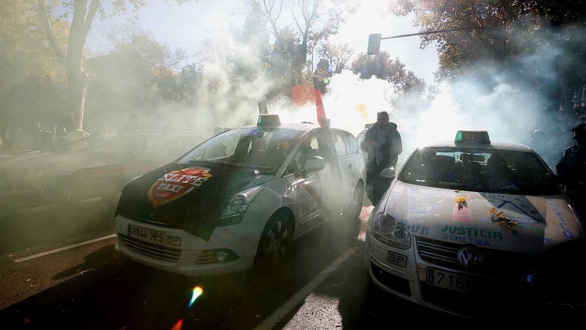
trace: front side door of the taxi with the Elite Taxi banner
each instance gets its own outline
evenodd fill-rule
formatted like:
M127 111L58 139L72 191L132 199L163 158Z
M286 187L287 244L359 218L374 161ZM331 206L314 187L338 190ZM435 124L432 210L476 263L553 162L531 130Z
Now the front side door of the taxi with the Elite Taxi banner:
M326 200L324 181L331 177L326 166L322 171L304 173L305 161L312 156L323 157L323 149L315 134L310 134L300 144L289 162L283 178L287 180L287 196L298 220L299 235L306 233L326 220L329 203Z

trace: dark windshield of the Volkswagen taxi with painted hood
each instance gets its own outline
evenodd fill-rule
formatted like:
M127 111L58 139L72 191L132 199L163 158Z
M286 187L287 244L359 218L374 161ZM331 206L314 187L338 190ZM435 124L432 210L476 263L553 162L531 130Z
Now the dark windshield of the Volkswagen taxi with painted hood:
M551 196L560 194L547 181L547 168L533 153L506 150L422 148L416 150L398 180L454 190Z

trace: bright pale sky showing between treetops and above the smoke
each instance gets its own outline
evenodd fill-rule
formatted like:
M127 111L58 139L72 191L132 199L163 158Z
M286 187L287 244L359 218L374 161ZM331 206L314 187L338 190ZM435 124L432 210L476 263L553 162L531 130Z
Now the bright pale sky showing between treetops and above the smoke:
M413 26L413 15L396 17L387 14L387 1L355 2L360 5L359 8L355 14L347 16L346 22L338 29L338 35L330 37L331 42L347 42L356 49L357 54L366 52L369 33L391 36L417 32ZM104 2L104 6L108 11L108 2ZM185 64L197 62L196 53L205 35L229 26L240 27L245 17L240 0L200 0L171 6L161 0L149 0L148 6L130 15L137 15L139 25L151 30L158 41L171 48L185 49L190 55ZM103 33L114 25L123 25L125 19L125 16L110 16L104 21L96 19L87 39L88 48L96 52L107 51ZM407 70L413 70L417 76L432 82L433 73L438 67L435 45L421 50L419 42L417 36L383 40L381 50L389 52L393 58L398 57Z

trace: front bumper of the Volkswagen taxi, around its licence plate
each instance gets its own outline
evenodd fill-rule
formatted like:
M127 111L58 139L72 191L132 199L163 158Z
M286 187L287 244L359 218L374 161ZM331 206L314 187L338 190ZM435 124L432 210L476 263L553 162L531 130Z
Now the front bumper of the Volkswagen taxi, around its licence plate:
M502 307L503 304L514 306L515 312L521 309L534 311L537 307L530 302L531 283L527 280L502 280L431 264L420 258L414 237L412 240L411 247L402 250L376 240L367 228L364 264L370 279L384 291L424 307L464 317L510 316L507 314L510 310L502 313L499 306ZM387 261L389 251L406 257L404 267ZM482 288L485 291L465 294L430 285L427 283L428 267L475 277L483 285L486 284Z

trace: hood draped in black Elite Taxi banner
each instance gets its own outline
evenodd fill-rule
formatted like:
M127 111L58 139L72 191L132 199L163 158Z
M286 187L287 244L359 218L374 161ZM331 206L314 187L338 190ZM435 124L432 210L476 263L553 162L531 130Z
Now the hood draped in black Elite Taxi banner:
M207 241L232 196L271 179L229 164L166 164L128 183L115 215L180 228Z

